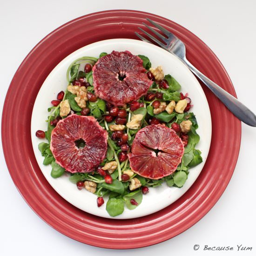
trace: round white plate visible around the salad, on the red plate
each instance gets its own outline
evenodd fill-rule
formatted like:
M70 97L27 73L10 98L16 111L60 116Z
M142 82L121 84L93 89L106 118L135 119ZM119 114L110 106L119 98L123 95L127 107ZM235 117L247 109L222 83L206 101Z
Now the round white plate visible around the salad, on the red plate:
M112 218L106 211L107 198L104 198L105 204L98 208L96 195L88 192L86 189L78 190L75 184L69 182L69 175L65 174L57 179L51 177L51 166L44 166L42 164L44 159L38 150L38 144L43 140L38 139L35 136L35 132L39 129L47 130L47 123L45 121L49 114L47 108L51 106L50 102L56 99L58 92L61 90L65 91L67 88L66 72L70 63L82 56L98 57L101 52L111 53L112 50L128 50L135 55L146 55L151 61L152 67L161 65L164 74L171 74L181 84L182 92L188 92L189 97L192 99L194 107L191 111L196 115L199 124L197 133L201 137L196 148L202 151L203 162L190 169L188 180L185 182L185 185L179 189L175 187L169 188L164 183L160 187L150 188L150 192L147 195L143 195L143 200L140 206L134 210L125 208L121 215L115 217L115 219L129 219L146 216L167 207L191 187L202 171L209 152L211 141L211 117L205 94L195 76L179 59L160 47L139 40L111 39L90 44L68 55L53 69L42 84L34 103L31 120L32 144L40 169L51 186L68 202L77 208L96 216Z

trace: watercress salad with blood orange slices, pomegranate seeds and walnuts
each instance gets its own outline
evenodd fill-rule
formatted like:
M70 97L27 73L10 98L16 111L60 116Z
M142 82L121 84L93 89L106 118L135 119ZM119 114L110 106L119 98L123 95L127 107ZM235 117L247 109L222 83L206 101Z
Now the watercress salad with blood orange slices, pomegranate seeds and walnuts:
M181 188L202 162L189 95L161 66L128 51L81 57L48 108L38 146L51 176L70 175L110 216L138 207L149 188Z

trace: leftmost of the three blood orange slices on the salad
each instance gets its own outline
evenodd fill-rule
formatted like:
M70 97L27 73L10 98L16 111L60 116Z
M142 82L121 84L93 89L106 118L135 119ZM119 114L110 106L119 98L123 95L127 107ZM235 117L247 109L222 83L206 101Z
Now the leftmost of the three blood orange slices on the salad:
M51 135L56 163L71 173L93 171L106 155L107 134L93 116L69 115Z

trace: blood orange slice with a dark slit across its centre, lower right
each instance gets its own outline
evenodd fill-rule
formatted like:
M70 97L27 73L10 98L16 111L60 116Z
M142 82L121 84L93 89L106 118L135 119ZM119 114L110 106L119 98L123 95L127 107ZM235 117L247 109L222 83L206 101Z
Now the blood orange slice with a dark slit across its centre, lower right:
M182 161L184 146L175 131L161 124L138 131L128 154L133 171L149 179L171 175Z

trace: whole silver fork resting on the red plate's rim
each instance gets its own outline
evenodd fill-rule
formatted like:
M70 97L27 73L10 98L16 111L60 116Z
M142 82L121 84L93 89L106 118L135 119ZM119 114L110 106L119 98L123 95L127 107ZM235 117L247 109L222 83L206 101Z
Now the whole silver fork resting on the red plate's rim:
M146 34L151 40L158 44L163 49L167 50L169 53L177 56L189 69L224 103L224 105L241 121L244 123L256 127L256 115L249 108L245 107L240 101L238 101L231 94L223 90L215 82L211 81L208 77L202 74L198 69L196 69L187 59L186 59L186 48L184 43L178 39L174 34L169 32L167 29L161 25L155 23L153 20L147 19L151 24L157 27L163 34L163 36L158 33L154 28L149 27L144 22L142 23L146 26L151 32L156 34L164 43L160 40L149 34L147 31L138 27L144 34ZM144 38L141 34L135 32L135 34L143 41L151 43L149 40Z

